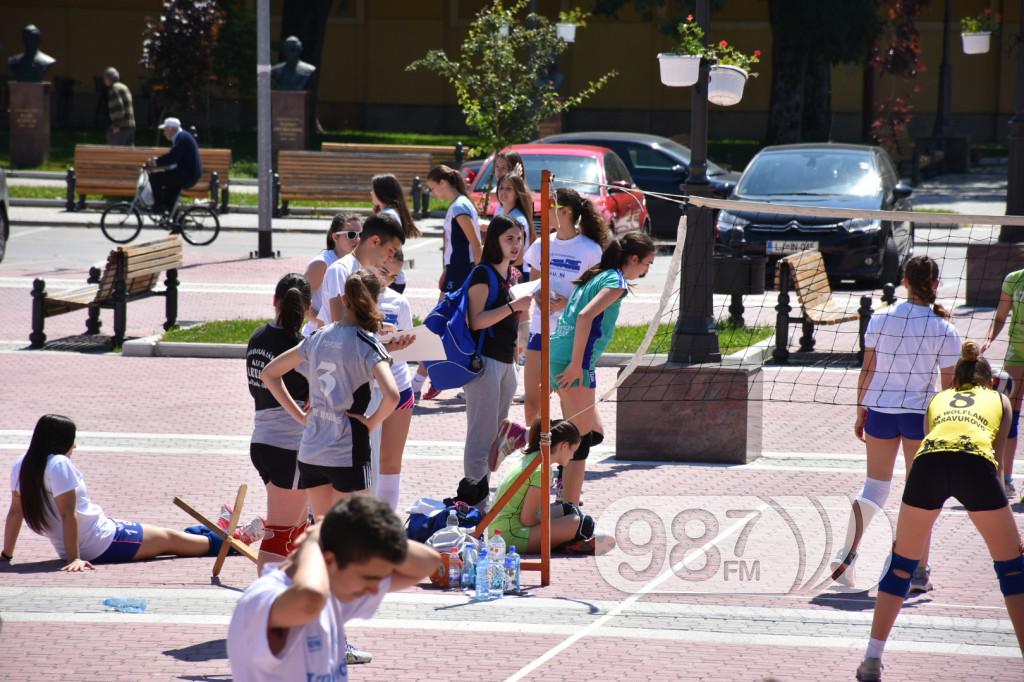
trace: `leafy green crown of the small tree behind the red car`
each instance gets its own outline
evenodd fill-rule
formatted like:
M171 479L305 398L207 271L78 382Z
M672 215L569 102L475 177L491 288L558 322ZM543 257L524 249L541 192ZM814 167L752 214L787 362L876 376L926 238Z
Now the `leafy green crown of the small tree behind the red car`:
M482 140L478 152L532 139L542 121L578 106L616 75L608 72L577 94L559 94L552 74L565 41L546 17L522 17L526 5L496 0L470 24L457 60L430 50L407 67L432 71L452 84L466 125Z

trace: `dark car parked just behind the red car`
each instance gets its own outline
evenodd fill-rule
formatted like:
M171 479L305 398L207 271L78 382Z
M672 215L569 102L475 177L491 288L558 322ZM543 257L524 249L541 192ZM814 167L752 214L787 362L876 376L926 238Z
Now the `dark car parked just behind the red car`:
M690 173L690 151L679 142L644 133L631 132L577 132L549 135L539 140L542 143L595 144L606 146L617 154L630 171L630 175L644 191L658 191L666 195L680 194L680 185ZM725 170L708 162L708 182L718 197L728 197L739 173ZM681 205L675 202L647 197L647 210L651 225L657 237L674 238L679 224Z

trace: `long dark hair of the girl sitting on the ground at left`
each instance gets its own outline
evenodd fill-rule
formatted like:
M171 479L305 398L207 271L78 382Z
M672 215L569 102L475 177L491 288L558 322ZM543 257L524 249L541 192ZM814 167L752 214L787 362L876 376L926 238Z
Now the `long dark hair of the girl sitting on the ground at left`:
M61 415L43 415L36 422L29 450L22 460L17 486L22 495L22 515L36 532L43 535L50 524L47 512L55 514L46 491L44 474L50 455L65 455L75 444L75 422Z

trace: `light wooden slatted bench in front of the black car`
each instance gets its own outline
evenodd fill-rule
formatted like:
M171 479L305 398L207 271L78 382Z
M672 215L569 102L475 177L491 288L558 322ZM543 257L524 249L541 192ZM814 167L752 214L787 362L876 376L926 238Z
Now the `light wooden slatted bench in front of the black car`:
M791 289L792 287L792 289ZM814 350L814 328L821 326L841 325L846 322L860 321L858 332L859 351L857 356L864 356L864 332L867 322L871 318L871 297L861 296L860 307L848 311L833 299L831 287L828 285L828 273L821 253L816 250L801 251L779 259L775 266L775 289L778 291L778 305L775 317L775 350L772 356L779 363L790 358L790 325L800 323L803 335L800 337L801 352ZM797 294L800 303L800 314L791 315L790 292ZM891 285L887 285L884 303L892 303L894 293Z

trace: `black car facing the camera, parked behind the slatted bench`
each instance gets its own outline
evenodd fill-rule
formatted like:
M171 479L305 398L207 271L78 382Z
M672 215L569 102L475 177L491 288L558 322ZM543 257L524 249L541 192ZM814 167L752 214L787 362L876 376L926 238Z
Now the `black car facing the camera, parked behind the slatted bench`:
M900 182L889 154L860 144L784 144L762 150L746 166L731 199L829 207L909 211L910 186ZM817 249L831 280L899 284L913 255L913 224L721 211L716 250L783 255ZM769 268L771 270L772 268Z

